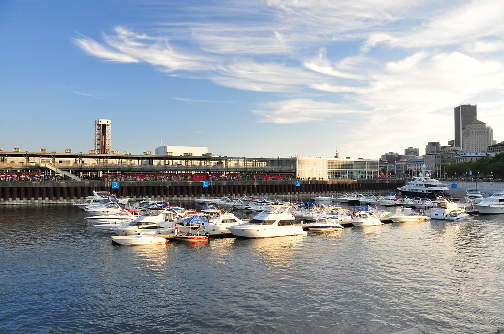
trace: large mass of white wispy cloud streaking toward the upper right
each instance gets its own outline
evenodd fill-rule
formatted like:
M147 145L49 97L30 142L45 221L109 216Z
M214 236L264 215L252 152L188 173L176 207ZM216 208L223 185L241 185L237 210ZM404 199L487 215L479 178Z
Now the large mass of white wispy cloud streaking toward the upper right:
M146 62L181 77L271 93L254 111L260 122L357 115L389 141L397 138L377 130L381 125L411 136L403 125L418 114L448 117L454 105L504 90L504 3L494 0L181 4L180 17L166 10L166 21L145 32L116 27L101 42L75 43L105 60ZM435 135L429 122L415 125Z

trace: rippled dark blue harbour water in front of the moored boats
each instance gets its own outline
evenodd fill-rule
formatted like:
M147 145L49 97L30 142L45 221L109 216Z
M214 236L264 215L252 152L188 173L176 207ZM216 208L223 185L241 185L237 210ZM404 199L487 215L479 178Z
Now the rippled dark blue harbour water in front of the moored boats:
M0 207L1 332L504 328L504 215L118 247L85 216Z

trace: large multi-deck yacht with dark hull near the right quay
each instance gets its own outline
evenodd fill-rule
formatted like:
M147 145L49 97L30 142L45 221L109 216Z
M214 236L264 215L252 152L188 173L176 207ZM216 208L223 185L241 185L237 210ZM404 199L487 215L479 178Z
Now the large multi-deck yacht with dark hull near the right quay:
M448 187L435 180L431 179L428 172L425 171L425 165L422 165L422 171L418 176L406 185L397 188L403 196L421 197L435 199L438 196L449 196Z

